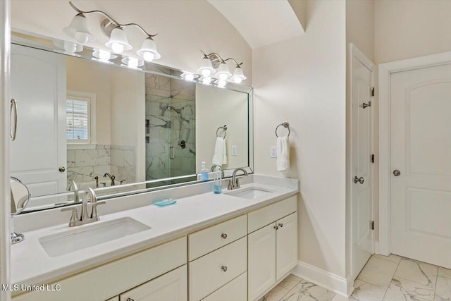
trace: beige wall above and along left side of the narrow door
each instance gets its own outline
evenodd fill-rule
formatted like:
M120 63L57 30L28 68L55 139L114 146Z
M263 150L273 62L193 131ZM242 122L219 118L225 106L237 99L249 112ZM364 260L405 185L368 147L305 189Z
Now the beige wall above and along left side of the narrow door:
M352 128L350 116L352 103L350 99L350 43L353 43L371 61L374 61L374 0L346 0L346 45L347 45L347 73L346 73L346 275L352 274L352 170L351 170L351 140ZM372 109L377 104L373 101ZM376 154L377 155L377 154Z

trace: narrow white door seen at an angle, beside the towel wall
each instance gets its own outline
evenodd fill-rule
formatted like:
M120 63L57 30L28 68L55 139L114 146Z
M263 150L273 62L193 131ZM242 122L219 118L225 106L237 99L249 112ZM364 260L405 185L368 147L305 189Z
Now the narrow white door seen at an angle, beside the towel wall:
M356 50L354 49L354 54ZM352 232L353 275L373 254L372 79L373 64L352 57Z

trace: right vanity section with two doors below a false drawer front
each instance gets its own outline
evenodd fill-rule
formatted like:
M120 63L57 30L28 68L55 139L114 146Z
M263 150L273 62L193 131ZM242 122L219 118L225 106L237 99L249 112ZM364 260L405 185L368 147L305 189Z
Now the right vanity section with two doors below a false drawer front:
M247 274L251 301L297 264L297 198L290 197L249 213L248 231Z

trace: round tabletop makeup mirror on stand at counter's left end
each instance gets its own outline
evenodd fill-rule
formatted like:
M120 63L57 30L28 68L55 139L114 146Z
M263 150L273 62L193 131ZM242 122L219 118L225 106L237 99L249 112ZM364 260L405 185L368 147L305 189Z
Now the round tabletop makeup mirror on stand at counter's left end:
M31 194L27 186L18 178L11 177L11 244L21 242L25 236L14 232L13 216L20 214L30 201Z

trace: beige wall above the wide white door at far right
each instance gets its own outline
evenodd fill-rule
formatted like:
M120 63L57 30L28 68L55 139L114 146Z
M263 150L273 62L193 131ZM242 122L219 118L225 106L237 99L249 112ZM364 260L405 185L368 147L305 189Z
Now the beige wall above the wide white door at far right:
M376 63L451 51L451 1L375 1Z

